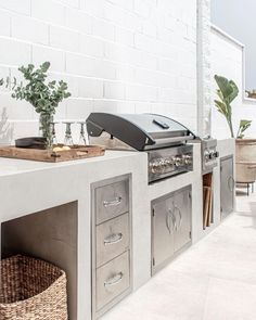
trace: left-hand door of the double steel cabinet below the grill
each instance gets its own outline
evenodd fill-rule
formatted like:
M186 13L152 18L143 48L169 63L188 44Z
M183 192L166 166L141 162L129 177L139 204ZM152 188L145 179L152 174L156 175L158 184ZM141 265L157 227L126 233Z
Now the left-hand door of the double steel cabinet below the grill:
M164 266L174 255L175 223L168 206L169 201L159 200L153 205L153 273Z

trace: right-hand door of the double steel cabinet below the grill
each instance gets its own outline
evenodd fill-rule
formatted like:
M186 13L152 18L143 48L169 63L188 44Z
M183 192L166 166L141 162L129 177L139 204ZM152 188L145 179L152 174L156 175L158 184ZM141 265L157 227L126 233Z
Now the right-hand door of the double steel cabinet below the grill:
M191 187L175 194L175 252L191 241Z

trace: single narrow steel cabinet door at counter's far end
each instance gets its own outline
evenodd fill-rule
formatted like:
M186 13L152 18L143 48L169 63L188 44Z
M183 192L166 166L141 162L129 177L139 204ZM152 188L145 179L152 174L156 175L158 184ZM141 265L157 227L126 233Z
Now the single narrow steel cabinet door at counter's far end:
M220 159L220 212L221 219L233 212L234 178L233 156Z

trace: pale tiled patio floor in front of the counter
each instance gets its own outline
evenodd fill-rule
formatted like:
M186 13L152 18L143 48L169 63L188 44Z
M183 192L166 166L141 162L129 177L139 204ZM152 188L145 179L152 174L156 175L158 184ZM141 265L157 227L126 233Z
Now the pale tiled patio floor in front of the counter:
M255 320L256 195L104 320Z

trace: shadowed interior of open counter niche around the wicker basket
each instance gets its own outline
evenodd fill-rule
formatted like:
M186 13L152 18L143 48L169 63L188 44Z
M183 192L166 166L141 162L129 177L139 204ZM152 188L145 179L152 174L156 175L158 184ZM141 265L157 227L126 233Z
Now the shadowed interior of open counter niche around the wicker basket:
M77 202L1 223L1 258L16 254L51 263L66 272L68 319L77 319Z

